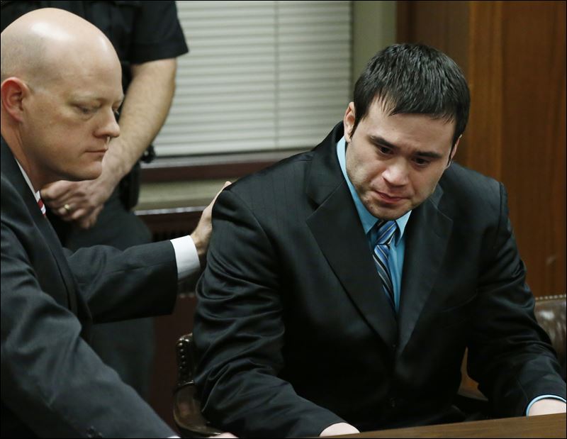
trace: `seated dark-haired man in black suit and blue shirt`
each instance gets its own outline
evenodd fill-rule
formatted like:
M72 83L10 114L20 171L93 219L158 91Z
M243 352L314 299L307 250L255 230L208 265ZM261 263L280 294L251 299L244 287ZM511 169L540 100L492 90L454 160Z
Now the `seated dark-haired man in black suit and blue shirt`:
M469 105L447 55L391 46L317 148L220 195L194 328L210 421L261 437L459 421L466 347L498 416L565 411L505 189L451 164Z

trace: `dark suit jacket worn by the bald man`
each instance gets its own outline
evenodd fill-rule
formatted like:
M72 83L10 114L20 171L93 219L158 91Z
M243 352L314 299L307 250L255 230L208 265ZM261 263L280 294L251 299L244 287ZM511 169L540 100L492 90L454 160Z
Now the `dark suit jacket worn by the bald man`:
M171 312L176 282L169 242L64 250L2 138L2 437L171 435L88 341L93 321Z

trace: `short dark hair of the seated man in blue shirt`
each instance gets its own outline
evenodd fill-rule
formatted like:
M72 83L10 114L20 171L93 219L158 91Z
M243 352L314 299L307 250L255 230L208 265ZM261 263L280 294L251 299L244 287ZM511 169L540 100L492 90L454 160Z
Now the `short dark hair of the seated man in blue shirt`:
M354 86L354 126L378 99L390 116L427 114L455 121L453 146L468 121L471 96L463 72L443 52L420 44L395 44L378 52Z

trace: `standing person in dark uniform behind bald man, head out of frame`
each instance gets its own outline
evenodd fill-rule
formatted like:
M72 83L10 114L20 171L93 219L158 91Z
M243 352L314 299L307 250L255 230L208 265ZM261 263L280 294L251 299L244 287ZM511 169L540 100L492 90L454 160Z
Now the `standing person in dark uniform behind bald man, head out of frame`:
M43 187L47 216L62 245L70 250L96 244L124 250L149 243L150 230L131 209L140 189L140 157L152 156L152 140L172 104L175 57L188 51L175 2L2 1L1 29L24 13L44 7L65 9L102 30L118 53L125 93L120 137L111 140L101 176ZM93 113L96 108L83 111ZM96 325L91 345L148 399L155 350L153 318Z

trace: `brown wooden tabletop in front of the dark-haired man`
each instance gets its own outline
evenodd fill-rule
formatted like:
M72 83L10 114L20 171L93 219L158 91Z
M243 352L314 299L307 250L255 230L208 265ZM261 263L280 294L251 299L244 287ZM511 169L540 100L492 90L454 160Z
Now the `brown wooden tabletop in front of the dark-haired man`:
M565 438L566 414L366 431L333 438Z

